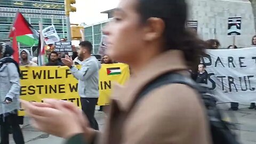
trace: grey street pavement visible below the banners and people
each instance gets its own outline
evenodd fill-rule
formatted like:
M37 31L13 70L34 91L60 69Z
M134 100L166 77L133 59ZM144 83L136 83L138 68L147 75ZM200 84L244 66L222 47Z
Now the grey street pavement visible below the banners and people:
M236 129L234 130L237 133L238 139L241 143L244 144L255 144L256 143L256 110L249 110L247 107L249 106L239 106L238 111L230 111L228 110L229 105L219 105L222 109L222 113L225 116L225 120L235 123ZM105 114L99 111L96 111L95 117L99 123L100 130L102 131L104 125ZM61 144L65 142L65 140L54 137L53 135L49 135L43 133L41 131L37 131L29 125L28 118L25 118L25 124L22 128L23 135L25 137L25 142L27 144L45 144L45 143L54 143ZM10 134L10 143L14 143L12 139L12 135Z

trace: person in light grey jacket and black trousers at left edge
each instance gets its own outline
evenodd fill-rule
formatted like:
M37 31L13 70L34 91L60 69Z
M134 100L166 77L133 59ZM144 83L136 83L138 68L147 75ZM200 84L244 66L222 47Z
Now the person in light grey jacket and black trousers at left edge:
M15 143L25 143L18 118L21 74L18 63L11 57L13 52L11 46L0 43L1 144L9 144L10 126Z

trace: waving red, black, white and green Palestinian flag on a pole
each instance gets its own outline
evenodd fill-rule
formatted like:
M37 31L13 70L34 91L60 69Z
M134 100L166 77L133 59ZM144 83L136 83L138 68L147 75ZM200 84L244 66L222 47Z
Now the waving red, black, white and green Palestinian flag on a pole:
M9 38L16 37L16 41L27 46L38 45L39 36L37 31L28 23L21 13L17 13L13 22Z

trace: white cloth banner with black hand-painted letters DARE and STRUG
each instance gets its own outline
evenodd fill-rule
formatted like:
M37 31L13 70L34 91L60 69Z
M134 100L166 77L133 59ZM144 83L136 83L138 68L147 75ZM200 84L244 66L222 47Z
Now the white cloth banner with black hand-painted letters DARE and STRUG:
M256 47L206 53L208 85L218 102L256 102Z

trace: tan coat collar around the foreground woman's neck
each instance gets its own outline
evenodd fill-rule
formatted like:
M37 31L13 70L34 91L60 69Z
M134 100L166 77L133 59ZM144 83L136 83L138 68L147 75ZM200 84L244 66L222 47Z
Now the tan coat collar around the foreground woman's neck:
M167 72L187 69L182 51L170 50L164 52L152 59L148 65L142 68L140 73L132 76L124 86L115 85L112 99L118 103L119 108L127 111L146 84Z

